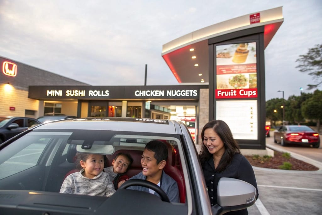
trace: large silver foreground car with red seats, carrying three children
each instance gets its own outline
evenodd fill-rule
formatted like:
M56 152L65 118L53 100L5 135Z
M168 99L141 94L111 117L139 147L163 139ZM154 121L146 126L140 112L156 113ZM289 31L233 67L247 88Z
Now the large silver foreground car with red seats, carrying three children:
M121 117L65 119L43 123L0 145L0 214L223 214L255 203L249 183L221 178L218 204L211 207L198 154L183 122ZM147 142L166 144L164 167L178 185L180 202L146 180L130 179L111 197L59 193L66 175L74 171L76 152L106 155L111 166L118 152L133 163L129 177L143 171ZM17 158L19 157L19 158ZM127 189L143 186L159 194Z

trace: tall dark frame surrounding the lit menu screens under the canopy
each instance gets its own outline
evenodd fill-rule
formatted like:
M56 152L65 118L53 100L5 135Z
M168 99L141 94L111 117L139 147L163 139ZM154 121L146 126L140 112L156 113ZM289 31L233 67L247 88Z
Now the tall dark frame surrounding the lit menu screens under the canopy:
M255 88L246 88L246 86L240 86L241 89L236 89L236 96L226 94L220 98L216 98L215 91L217 90L217 46L229 45L229 44L240 44L240 43L252 43L256 42L256 77L257 77L257 91L256 96L246 96L238 98L239 91L254 91ZM217 101L237 101L240 100L241 104L243 101L256 100L257 101L257 140L249 139L249 137L236 137L241 149L265 149L265 119L266 119L266 103L265 103L265 60L264 60L264 49L267 42L264 41L264 27L257 26L250 29L244 29L233 33L220 35L213 37L208 40L208 51L209 51L209 121L218 119L217 115ZM237 47L236 47L237 50ZM234 50L231 52L231 56L234 55ZM232 58L231 58L232 59ZM246 78L248 78L246 76ZM227 80L227 79L226 79ZM229 83L229 82L228 82ZM243 88L245 89L243 89ZM223 89L220 89L223 90ZM233 92L235 89L227 89ZM224 94L222 94L224 95ZM238 104L236 104L238 105ZM226 113L229 114L229 113ZM222 116L224 117L224 116ZM228 115L227 115L228 117ZM247 120L245 118L245 120ZM243 125L240 125L243 126ZM234 133L234 131L232 131ZM243 138L243 139L237 139Z

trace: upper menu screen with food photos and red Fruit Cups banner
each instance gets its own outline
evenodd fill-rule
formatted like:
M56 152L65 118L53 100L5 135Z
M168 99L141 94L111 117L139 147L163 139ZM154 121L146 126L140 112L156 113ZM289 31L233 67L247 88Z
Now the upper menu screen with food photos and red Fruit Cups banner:
M256 42L216 46L216 99L257 98Z

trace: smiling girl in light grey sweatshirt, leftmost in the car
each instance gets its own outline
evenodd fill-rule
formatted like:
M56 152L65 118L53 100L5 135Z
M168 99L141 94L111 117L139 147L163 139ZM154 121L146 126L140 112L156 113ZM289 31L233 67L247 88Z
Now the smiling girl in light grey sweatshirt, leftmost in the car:
M104 156L100 154L76 153L76 164L81 171L70 174L62 183L60 193L90 196L111 196L114 185L104 169Z

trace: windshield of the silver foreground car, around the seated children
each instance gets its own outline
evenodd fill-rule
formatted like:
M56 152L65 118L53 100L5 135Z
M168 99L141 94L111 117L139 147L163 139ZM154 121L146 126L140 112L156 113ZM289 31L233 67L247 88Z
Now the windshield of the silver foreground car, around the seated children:
M59 192L66 174L76 169L76 152L106 155L105 167L108 167L112 165L116 153L125 151L134 159L128 171L132 177L142 171L141 155L146 143L151 140L166 143L175 151L169 158L169 165L180 168L180 171L185 169L178 165L185 162L181 161L183 156L179 156L182 148L180 137L176 135L97 130L34 130L1 150L0 189ZM26 175L28 180L21 180Z

